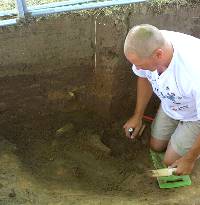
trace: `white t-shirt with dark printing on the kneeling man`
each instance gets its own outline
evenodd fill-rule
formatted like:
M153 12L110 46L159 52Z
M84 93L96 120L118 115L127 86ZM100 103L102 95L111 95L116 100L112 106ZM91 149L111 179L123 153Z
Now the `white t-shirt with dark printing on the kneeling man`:
M181 121L200 120L200 39L173 31L162 30L174 48L168 68L159 76L157 70L137 70L147 78L161 100L164 112Z

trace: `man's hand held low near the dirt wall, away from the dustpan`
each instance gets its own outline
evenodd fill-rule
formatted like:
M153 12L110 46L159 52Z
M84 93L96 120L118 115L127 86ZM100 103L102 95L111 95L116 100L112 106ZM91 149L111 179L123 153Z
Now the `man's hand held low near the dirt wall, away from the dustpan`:
M126 136L128 138L134 139L138 132L140 131L142 127L142 117L138 117L137 115L133 115L123 126ZM133 133L130 135L130 132L128 131L129 128L133 128Z

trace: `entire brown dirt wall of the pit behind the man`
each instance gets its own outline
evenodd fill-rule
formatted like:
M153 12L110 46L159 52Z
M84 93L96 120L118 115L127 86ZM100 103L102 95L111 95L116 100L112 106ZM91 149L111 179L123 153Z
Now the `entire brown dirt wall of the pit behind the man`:
M126 118L136 99L136 77L123 55L128 30L149 23L200 37L199 13L199 6L137 4L1 28L0 111L8 117L86 109Z

